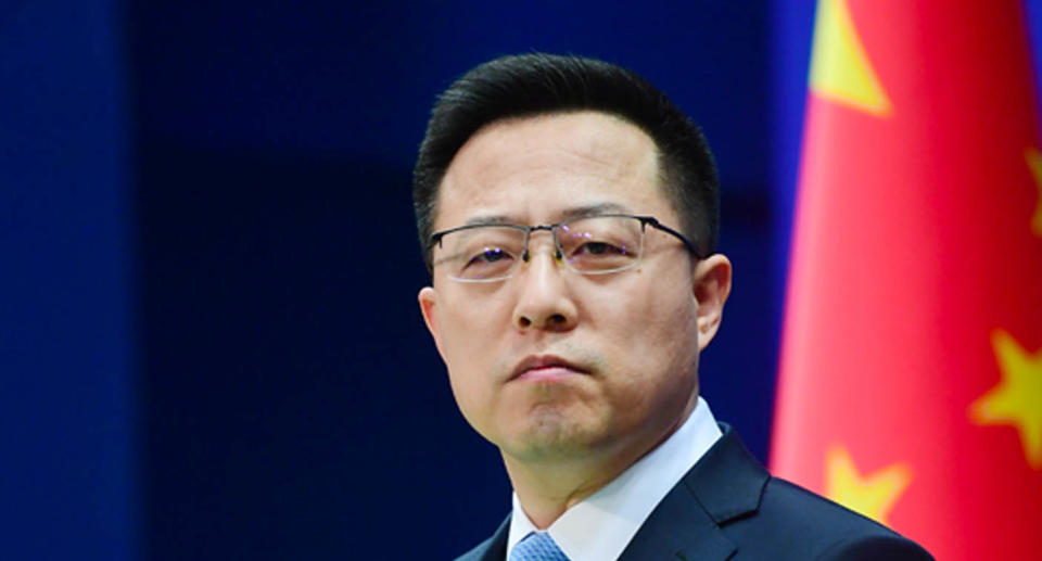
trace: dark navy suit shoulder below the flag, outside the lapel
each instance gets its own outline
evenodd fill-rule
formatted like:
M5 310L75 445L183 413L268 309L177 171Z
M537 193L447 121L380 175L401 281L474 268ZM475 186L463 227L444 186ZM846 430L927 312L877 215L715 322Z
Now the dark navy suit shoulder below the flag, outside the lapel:
M736 520L730 532L744 543L759 543L785 559L860 561L869 559L928 561L923 548L878 522L793 483L770 477L760 508ZM776 558L778 559L778 558Z

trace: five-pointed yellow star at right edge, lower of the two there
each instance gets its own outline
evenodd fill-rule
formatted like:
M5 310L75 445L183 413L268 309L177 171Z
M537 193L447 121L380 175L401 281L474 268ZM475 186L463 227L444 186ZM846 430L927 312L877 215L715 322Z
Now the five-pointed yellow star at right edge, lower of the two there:
M969 406L969 418L981 425L1013 425L1028 464L1042 469L1042 348L1032 356L1013 335L991 334L1002 381Z

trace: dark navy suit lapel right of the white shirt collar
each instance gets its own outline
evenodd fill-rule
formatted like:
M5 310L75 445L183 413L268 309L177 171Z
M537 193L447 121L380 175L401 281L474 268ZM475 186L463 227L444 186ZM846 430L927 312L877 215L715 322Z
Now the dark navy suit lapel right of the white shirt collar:
M724 435L655 508L620 561L722 561L734 553L721 527L759 508L770 475L729 426L721 429Z

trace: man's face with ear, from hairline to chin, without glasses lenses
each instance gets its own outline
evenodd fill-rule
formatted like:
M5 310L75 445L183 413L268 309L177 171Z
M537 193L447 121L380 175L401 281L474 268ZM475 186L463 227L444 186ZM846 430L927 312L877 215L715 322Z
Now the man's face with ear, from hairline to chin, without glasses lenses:
M509 119L456 154L434 229L482 217L554 224L590 208L681 224L653 141L596 112ZM695 405L698 352L715 332L729 265L695 263L652 228L637 267L610 275L570 270L552 246L549 232L533 232L531 259L498 282L458 282L435 265L423 317L460 410L505 458L633 461Z

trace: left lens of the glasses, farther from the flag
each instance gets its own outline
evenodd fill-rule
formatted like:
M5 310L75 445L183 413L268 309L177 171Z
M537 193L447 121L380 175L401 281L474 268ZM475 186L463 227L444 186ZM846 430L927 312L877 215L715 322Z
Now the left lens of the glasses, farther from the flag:
M466 228L442 237L434 263L448 276L473 282L509 277L524 252L524 230L506 226Z

